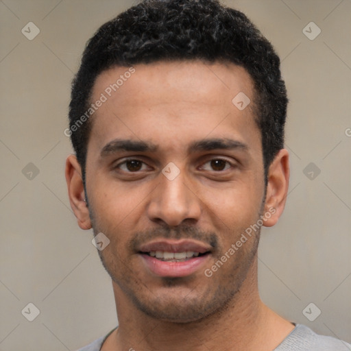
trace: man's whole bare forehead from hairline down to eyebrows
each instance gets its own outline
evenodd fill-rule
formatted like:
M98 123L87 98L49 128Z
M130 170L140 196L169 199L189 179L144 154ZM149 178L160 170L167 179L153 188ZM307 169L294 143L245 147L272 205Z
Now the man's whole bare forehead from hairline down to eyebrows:
M261 139L254 122L251 77L234 64L116 66L97 77L91 102L98 100L104 102L93 114L89 144L99 149L114 138L178 149L208 135L249 139L246 143Z

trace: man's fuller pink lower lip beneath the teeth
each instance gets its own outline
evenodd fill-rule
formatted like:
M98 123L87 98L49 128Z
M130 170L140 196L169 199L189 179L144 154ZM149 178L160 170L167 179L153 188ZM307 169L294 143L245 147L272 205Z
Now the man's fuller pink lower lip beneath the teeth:
M147 268L160 277L185 277L190 276L199 270L210 255L198 256L190 258L182 262L160 261L155 257L147 254L141 254L143 262Z

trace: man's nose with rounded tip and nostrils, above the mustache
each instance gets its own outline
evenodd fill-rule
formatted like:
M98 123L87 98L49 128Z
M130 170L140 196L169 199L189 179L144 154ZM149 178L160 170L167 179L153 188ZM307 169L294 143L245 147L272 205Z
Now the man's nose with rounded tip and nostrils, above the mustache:
M195 223L199 220L201 201L182 173L173 180L160 174L160 183L152 192L147 206L147 216L151 221L179 226L183 222Z

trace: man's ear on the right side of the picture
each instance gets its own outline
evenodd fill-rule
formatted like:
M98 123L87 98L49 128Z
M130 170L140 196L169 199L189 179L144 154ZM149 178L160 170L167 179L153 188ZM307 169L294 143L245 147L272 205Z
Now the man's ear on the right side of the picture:
M285 208L289 188L289 153L281 149L269 166L263 226L271 227L278 222Z

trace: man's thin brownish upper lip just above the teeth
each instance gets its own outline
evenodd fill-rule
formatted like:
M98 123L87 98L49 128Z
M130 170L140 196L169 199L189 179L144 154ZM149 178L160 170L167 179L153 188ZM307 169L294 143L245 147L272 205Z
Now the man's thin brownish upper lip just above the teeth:
M210 245L206 245L200 241L183 239L183 240L155 240L145 243L139 247L139 252L152 252L152 251L163 251L163 252L186 252L193 251L204 254L211 250Z

